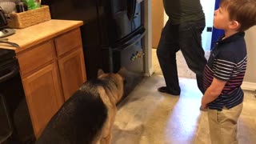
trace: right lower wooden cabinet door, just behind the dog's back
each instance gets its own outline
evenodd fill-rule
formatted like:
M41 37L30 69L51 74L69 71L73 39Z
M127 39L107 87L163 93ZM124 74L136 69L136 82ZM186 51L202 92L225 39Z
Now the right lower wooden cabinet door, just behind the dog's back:
M65 101L86 82L84 63L82 47L58 60Z

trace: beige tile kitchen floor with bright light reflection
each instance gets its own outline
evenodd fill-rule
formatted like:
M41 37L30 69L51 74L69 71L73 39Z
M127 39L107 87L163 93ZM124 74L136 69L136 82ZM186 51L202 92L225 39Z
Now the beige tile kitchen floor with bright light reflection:
M210 144L206 112L200 111L202 94L195 79L179 78L180 96L162 94L162 75L144 78L118 105L112 144ZM256 143L256 98L245 91L238 121L239 144Z

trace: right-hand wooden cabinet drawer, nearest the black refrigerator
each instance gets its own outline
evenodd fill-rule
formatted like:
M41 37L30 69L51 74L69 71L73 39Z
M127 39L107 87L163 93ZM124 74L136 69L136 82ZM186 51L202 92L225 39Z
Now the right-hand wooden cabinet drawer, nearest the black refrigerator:
M72 30L55 38L54 43L58 56L65 54L78 46L82 46L80 29Z

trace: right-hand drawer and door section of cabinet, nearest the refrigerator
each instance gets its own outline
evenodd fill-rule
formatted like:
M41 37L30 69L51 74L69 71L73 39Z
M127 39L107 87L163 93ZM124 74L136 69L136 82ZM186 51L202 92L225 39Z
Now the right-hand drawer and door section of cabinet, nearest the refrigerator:
M79 29L54 39L65 101L85 82L86 71Z

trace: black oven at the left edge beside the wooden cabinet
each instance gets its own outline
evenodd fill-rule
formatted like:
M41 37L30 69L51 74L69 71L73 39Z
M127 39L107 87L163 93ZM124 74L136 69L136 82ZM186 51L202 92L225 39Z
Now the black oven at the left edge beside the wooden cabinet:
M0 143L34 142L18 61L14 50L0 49Z

